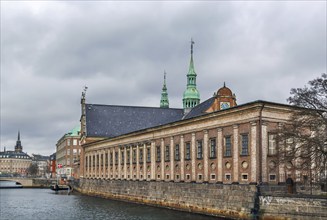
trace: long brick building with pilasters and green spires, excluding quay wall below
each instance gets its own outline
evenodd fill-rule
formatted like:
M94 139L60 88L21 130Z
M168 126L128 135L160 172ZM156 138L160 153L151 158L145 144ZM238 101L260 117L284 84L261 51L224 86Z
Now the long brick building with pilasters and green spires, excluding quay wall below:
M84 178L277 184L295 177L277 162L275 136L296 108L237 105L225 83L200 103L193 43L183 109L169 108L165 81L160 108L86 104L82 93Z

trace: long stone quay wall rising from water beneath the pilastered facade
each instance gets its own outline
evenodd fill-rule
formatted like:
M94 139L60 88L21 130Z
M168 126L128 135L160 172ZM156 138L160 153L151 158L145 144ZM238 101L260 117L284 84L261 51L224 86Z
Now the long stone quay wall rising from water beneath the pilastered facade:
M105 179L80 179L74 188L93 196L232 219L251 219L256 192L254 185Z

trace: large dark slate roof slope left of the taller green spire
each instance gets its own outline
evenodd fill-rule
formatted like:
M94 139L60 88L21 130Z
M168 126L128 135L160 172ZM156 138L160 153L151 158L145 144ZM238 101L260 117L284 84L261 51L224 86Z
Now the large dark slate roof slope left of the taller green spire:
M183 109L86 104L86 135L116 137L179 121Z

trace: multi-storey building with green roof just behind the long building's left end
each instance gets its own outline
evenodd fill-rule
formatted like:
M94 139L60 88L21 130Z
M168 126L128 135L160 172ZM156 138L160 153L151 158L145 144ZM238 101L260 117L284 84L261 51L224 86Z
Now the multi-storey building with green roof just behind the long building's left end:
M67 177L79 177L79 166L74 169L74 163L80 159L80 126L63 135L56 144L57 172Z

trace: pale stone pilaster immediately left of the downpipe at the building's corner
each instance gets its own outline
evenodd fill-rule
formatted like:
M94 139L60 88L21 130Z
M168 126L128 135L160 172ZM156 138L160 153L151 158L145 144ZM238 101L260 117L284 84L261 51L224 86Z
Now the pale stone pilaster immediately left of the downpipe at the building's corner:
M257 123L252 122L251 123L251 148L250 148L250 154L251 154L251 177L250 182L256 183L257 182L257 161L258 161L258 155L257 155Z

